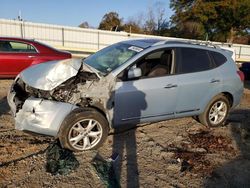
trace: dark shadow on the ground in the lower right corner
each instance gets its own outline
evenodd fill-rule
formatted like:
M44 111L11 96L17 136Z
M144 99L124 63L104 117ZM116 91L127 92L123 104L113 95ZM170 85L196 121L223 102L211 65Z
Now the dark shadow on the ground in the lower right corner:
M250 187L250 109L232 111L228 122L240 155L215 169L204 187Z

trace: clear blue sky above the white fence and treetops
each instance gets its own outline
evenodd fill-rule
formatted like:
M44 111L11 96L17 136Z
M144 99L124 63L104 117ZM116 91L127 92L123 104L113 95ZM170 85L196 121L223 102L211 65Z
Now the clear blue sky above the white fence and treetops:
M0 0L0 18L22 18L31 22L78 26L87 21L98 27L103 15L115 11L126 21L162 2L169 18L169 0Z

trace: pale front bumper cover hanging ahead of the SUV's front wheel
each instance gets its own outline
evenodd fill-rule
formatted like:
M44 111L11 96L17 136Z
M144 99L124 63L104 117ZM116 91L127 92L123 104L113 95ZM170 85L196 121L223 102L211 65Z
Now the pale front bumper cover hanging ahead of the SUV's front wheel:
M62 121L75 108L69 103L30 97L16 114L16 129L57 136Z

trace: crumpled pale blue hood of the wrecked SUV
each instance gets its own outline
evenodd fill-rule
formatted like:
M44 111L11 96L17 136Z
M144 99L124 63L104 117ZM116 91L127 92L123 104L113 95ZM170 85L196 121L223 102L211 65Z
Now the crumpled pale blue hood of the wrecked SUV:
M31 87L48 91L75 76L81 65L81 59L49 61L25 69L20 78Z

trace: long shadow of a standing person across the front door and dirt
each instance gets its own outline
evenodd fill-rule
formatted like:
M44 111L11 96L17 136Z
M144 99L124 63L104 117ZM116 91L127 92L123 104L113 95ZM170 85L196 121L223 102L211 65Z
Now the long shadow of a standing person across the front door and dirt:
M122 88L121 86L120 88ZM119 92L118 88L116 91ZM138 91L135 86L131 83L130 91L136 92L136 104L134 106L129 106L126 101L122 101L123 104L126 104L125 108L116 109L116 102L114 103L114 115L113 117L122 117L122 111L132 111L132 117L141 117L141 112L147 108L147 103L145 100L145 94L141 91ZM129 100L128 98L123 97L123 100ZM119 115L118 115L119 114ZM127 114L127 113L125 113ZM130 113L131 114L131 113ZM124 118L124 117L123 117ZM126 117L127 118L127 117ZM116 119L116 118L115 118ZM140 119L135 120L131 124L125 124L121 126L116 125L116 121L113 119L114 123L114 134L113 134L113 145L112 153L118 155L117 160L114 162L114 171L118 182L121 182L121 177L126 175L126 185L127 187L139 187L139 171L138 171L138 160L137 160L137 142L136 142L136 125L140 123ZM120 121L120 120L118 120ZM122 169L126 168L126 169ZM124 178L122 178L124 180Z

